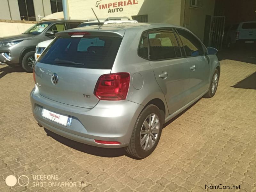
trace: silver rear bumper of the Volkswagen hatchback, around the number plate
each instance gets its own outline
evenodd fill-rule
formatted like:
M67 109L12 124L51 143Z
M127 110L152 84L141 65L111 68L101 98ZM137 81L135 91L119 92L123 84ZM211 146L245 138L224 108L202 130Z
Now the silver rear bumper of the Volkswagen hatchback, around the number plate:
M128 146L134 124L144 106L131 101L103 101L94 108L80 108L47 99L38 94L38 89L30 93L32 112L36 121L46 129L88 145L104 148ZM73 116L71 125L61 125L42 117L42 110ZM99 144L94 140L118 141L121 144Z

